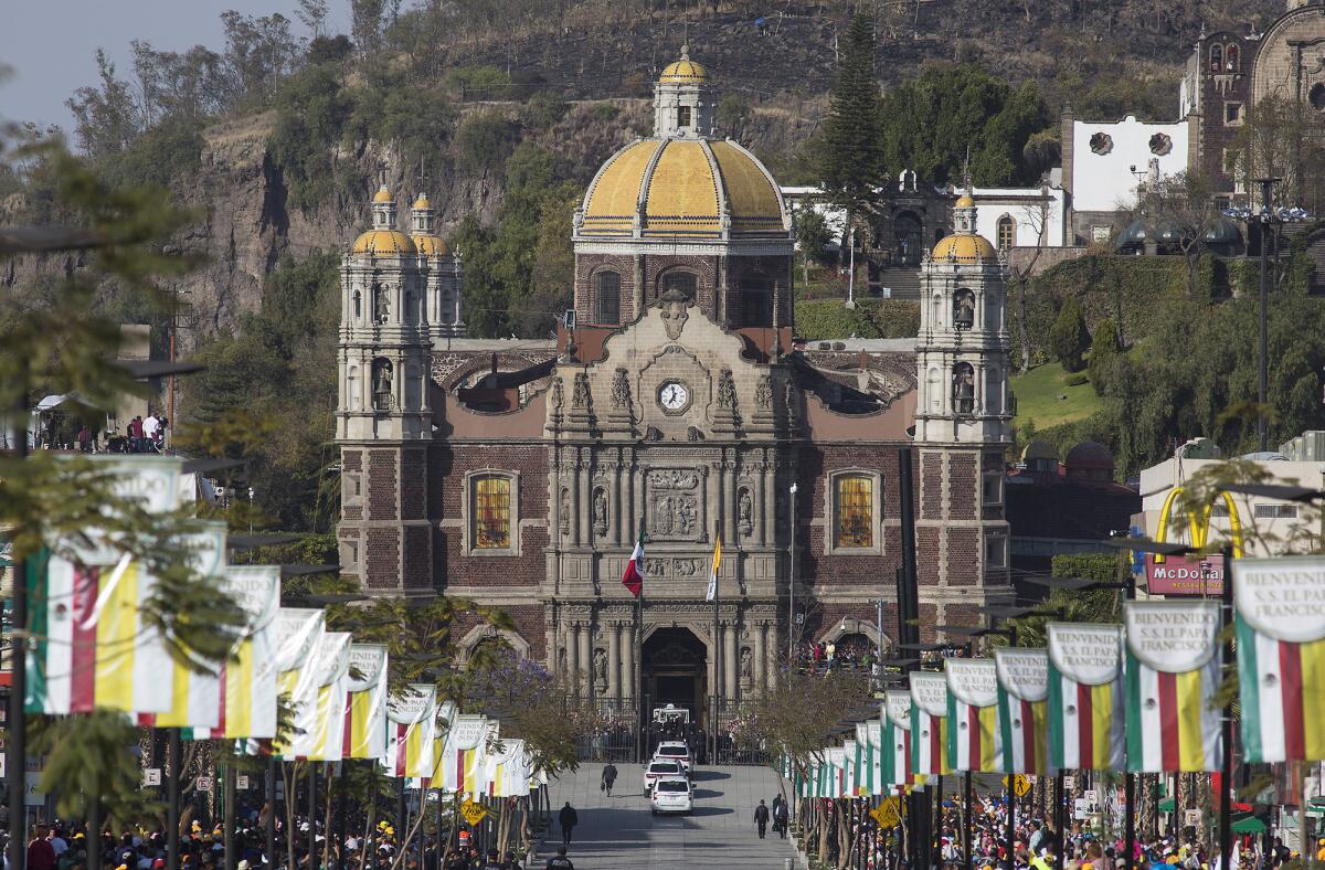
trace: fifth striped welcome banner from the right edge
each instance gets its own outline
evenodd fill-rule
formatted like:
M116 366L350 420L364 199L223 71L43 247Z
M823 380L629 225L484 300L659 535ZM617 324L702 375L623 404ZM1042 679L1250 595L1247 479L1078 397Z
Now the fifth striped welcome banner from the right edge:
M949 658L947 764L954 771L1003 769L1003 734L998 727L998 673L992 658Z

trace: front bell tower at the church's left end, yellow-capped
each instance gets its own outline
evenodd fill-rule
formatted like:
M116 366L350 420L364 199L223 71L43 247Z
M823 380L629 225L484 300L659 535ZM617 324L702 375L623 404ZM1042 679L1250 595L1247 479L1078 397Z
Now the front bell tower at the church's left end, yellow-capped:
M432 580L428 271L428 257L396 228L396 203L383 184L372 197L372 228L341 264L337 536L342 573L366 592Z

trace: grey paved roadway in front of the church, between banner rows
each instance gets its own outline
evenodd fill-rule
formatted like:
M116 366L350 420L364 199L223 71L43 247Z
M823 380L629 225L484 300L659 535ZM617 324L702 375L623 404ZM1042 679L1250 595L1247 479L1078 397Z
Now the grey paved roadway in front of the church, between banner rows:
M551 785L553 817L570 801L579 826L568 857L575 870L673 870L674 867L749 867L782 870L795 853L790 840L768 828L759 840L754 808L772 804L778 776L766 767L702 767L694 771L694 813L653 816L644 797L640 768L617 764L612 797L599 788L602 764L583 764ZM535 867L555 854L560 829L554 825Z

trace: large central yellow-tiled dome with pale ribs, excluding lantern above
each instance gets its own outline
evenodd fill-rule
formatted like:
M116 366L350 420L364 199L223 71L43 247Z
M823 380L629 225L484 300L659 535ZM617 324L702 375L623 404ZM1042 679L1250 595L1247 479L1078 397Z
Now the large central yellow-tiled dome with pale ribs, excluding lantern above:
M641 139L612 155L584 197L583 236L786 236L782 195L758 159L731 142Z

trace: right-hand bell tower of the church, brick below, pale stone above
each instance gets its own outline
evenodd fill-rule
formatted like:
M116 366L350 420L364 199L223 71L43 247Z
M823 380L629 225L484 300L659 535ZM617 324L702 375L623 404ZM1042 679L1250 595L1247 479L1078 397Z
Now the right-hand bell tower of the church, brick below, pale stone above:
M953 208L953 234L921 266L916 342L920 457L921 618L930 603L939 622L979 620L979 606L1008 587L1003 511L1004 454L1012 442L1007 391L1007 281L994 245L975 232L975 200Z

